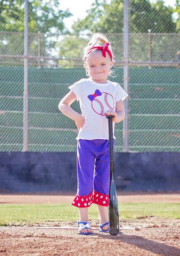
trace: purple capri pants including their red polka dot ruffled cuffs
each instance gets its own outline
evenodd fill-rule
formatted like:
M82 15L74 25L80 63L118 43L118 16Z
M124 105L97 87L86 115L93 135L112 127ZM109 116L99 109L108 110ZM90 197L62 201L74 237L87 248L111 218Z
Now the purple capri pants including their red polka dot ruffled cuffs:
M77 179L77 195L72 205L109 205L109 140L78 140Z

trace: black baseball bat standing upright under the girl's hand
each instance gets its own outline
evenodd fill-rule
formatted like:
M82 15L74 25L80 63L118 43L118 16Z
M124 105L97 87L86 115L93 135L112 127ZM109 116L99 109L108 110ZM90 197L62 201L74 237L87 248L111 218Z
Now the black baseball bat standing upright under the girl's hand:
M114 176L114 151L113 151L113 131L112 118L107 116L109 128L109 158L110 158L110 185L109 185L109 233L111 235L119 234L119 210L118 197Z

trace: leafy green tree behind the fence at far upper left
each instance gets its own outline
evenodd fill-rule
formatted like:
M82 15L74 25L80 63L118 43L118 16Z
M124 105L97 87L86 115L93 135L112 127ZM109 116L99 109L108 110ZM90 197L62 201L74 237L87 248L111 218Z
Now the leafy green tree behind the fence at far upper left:
M59 0L29 0L29 55L50 56L59 34L68 33L63 20L71 15L60 9ZM0 31L0 53L23 55L24 0L0 1Z

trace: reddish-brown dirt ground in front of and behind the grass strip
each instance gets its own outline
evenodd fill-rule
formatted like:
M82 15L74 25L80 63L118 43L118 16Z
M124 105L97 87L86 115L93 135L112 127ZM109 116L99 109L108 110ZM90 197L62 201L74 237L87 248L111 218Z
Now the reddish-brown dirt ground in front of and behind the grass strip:
M73 196L0 195L0 203L70 203ZM119 202L179 203L180 194L121 194ZM0 227L0 256L179 256L180 221L155 217L120 219L121 233L77 234L76 222L48 223L48 226Z

